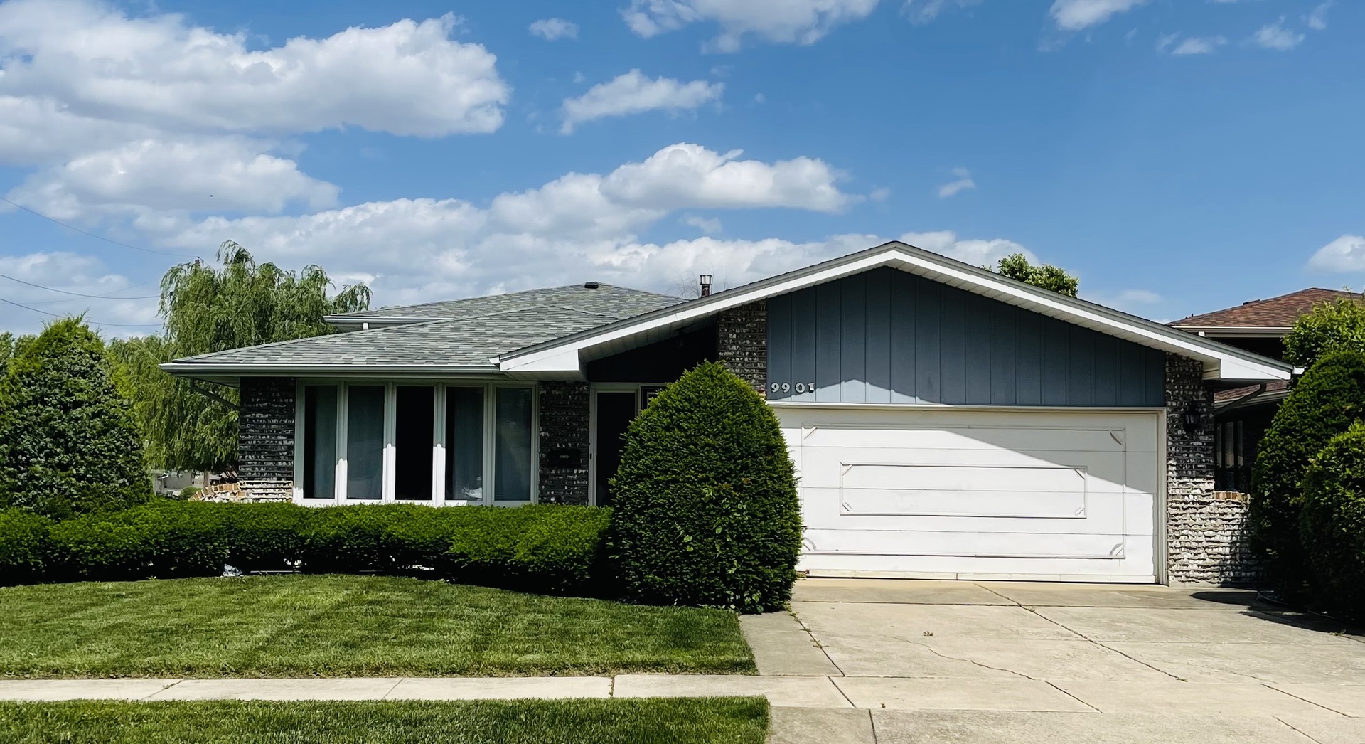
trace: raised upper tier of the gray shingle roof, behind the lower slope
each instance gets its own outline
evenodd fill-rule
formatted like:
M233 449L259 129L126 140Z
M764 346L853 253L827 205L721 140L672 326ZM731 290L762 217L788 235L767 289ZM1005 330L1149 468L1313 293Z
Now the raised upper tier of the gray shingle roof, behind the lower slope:
M581 284L571 284L568 287L489 295L486 298L381 307L378 310L334 315L334 318L356 321L363 321L364 318L474 318L493 313L506 313L509 310L562 307L620 319L667 307L678 302L682 302L682 299L625 287L613 287L610 284L599 284L595 289L590 289Z

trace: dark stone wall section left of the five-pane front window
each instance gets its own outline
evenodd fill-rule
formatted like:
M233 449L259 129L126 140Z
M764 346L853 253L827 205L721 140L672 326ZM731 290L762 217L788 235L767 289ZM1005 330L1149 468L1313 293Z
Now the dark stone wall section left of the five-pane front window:
M293 378L243 377L238 479L244 491L293 487Z

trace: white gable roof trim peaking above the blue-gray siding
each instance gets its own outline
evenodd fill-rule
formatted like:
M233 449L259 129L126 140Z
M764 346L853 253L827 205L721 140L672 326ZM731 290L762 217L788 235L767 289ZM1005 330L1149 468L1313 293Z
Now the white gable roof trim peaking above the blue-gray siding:
M502 371L515 375L581 374L581 364L587 359L609 356L663 339L674 329L722 310L785 295L879 266L919 274L1108 336L1198 359L1204 362L1205 380L1289 380L1293 373L1287 364L1274 359L1242 352L1185 330L1126 315L1085 300L1036 289L904 243L887 243L880 250L872 248L863 251L863 254L834 259L823 268L815 265L771 280L737 287L706 299L647 313L602 329L569 336L560 341L530 347L501 356L498 366Z

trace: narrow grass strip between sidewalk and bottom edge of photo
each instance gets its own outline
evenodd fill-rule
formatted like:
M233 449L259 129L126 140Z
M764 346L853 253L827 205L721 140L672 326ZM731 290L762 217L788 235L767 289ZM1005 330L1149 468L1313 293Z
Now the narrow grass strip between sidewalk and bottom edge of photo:
M0 740L90 744L762 744L762 698L0 703Z

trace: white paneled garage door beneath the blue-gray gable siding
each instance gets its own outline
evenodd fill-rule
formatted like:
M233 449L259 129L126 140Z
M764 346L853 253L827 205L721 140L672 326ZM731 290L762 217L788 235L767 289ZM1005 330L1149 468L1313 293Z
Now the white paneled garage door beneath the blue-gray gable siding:
M1156 412L775 410L812 576L1159 579Z

